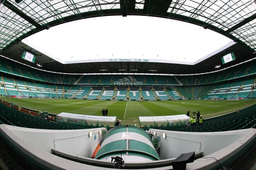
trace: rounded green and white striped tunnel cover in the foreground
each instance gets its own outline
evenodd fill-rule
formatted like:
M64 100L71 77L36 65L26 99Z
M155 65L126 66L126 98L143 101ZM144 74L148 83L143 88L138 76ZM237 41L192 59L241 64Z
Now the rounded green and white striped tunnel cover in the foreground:
M121 156L121 154L124 162L160 160L147 132L131 125L109 130L102 139L95 158L111 161L112 156Z

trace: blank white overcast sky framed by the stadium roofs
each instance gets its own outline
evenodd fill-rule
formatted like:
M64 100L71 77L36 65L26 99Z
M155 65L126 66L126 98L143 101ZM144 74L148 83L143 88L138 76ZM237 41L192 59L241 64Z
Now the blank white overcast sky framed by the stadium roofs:
M24 43L62 61L146 58L194 62L231 42L200 26L147 16L105 16L61 24Z

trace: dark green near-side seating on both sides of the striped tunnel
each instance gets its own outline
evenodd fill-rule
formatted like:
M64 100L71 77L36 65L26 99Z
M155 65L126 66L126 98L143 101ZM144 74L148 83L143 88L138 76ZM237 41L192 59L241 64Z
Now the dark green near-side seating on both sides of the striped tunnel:
M27 128L40 129L83 129L102 127L100 125L87 125L71 122L52 122L40 117L32 116L4 105L0 102L0 124L7 124ZM107 127L110 128L109 126ZM168 126L145 126L148 128L158 128L162 130L186 131L186 132L216 132L227 130L238 130L244 128L256 128L256 105L219 117L205 119L204 125L190 126L180 123Z

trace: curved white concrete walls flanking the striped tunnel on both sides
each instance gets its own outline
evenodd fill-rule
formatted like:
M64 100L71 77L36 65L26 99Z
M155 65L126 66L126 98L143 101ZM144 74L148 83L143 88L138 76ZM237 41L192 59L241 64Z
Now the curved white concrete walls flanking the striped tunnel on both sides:
M84 129L84 130L43 130L13 127L10 125L0 125L0 135L10 143L18 153L22 153L25 158L35 162L44 169L108 169L89 164L82 164L61 158L50 153L50 149L54 148L61 150L66 154L73 155L77 158L78 154L82 156L91 156L94 148L100 141L99 130ZM88 133L92 132L92 137L88 137ZM224 165L230 160L235 160L238 156L242 156L246 148L256 141L256 129L234 130L227 132L174 132L166 130L154 130L160 137L160 157L162 159L176 157L181 153L190 151L202 151L204 157L196 159L193 163L187 164L186 170L208 170L216 169L219 163ZM166 133L166 138L163 138L163 133ZM94 136L96 139L94 140ZM219 149L219 150L218 150ZM88 152L88 153L87 153ZM213 157L213 158L212 158ZM207 159L206 159L207 158ZM215 159L216 158L216 159ZM85 158L92 164L101 162L100 164L107 165L111 162ZM172 159L158 160L153 162L134 162L133 167L146 164L150 166L154 164L165 164L166 161ZM97 163L98 164L98 163ZM129 164L129 163L128 163ZM126 165L128 165L126 164ZM170 169L171 166L154 168L154 170ZM136 168L134 168L136 169ZM147 168L150 169L150 168Z

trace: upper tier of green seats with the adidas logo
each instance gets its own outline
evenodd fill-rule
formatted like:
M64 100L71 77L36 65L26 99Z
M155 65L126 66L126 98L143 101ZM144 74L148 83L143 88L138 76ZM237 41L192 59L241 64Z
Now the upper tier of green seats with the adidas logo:
M0 57L1 72L48 83L77 85L204 85L254 75L254 65L256 59L202 75L68 75L41 71Z

